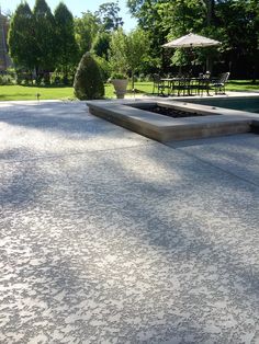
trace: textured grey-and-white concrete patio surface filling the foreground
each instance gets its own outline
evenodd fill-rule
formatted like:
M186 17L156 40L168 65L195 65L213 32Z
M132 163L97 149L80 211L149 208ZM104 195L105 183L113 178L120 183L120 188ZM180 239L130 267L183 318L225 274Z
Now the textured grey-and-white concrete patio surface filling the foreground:
M8 102L0 171L0 343L259 343L258 135Z

